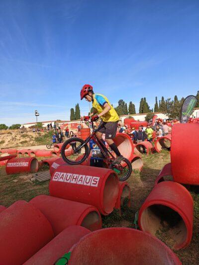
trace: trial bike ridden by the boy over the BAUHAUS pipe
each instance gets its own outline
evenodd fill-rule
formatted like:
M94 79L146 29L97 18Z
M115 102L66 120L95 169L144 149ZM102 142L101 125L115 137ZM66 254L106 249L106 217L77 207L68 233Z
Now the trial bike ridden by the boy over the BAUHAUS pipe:
M90 124L89 127L92 131L91 135L86 140L77 137L73 137L66 140L61 149L62 159L69 165L82 164L91 153L89 141L93 139L97 146L100 148L100 152L103 156L103 161L105 162L107 167L117 173L119 181L125 181L130 177L132 173L131 163L128 161L128 159L124 158L121 162L114 164L114 155L111 151L108 150L108 148L106 148L103 142L100 141L96 135L98 129L94 128L94 123L92 121L88 120L88 122ZM68 148L68 145L71 144L71 142L76 142L76 148L73 148L73 150L71 150L70 155L67 155L68 152L66 152L66 150Z

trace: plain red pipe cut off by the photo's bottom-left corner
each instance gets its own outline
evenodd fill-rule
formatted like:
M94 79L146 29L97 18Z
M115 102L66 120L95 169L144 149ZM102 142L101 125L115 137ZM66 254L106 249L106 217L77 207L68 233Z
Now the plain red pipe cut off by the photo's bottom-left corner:
M0 213L0 264L23 264L54 237L45 216L19 200Z

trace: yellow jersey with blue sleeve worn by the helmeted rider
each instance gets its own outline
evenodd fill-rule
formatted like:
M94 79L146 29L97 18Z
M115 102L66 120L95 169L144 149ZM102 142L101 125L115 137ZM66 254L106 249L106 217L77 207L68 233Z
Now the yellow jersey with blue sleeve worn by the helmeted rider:
M104 109L104 104L108 103L108 105L111 107L111 109L105 113L103 116L100 117L100 119L103 122L108 121L118 121L119 116L117 115L117 112L114 110L113 106L111 106L110 102L108 101L107 97L101 94L94 94L93 95L93 107L96 109L97 113L100 114Z

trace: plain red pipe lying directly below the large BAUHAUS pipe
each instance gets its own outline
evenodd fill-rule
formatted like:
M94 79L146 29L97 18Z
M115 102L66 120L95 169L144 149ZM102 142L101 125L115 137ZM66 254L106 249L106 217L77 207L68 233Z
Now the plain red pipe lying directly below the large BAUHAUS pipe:
M94 206L48 195L38 195L29 203L44 214L55 235L71 225L81 225L91 231L101 228L101 216Z

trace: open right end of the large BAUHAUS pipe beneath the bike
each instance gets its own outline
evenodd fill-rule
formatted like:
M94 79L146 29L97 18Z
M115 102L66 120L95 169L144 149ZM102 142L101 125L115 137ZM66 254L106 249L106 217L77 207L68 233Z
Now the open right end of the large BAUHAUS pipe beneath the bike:
M103 189L103 209L106 213L112 212L118 195L118 180L110 174L105 181ZM114 199L115 198L115 199Z

